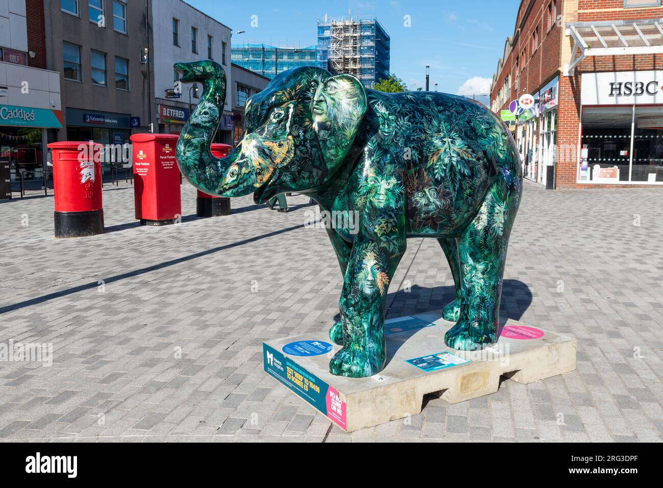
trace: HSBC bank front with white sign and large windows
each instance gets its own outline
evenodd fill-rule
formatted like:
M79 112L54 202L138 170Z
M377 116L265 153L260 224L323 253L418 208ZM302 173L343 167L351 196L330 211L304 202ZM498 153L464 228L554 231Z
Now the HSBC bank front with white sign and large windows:
M577 182L663 184L663 71L583 73Z

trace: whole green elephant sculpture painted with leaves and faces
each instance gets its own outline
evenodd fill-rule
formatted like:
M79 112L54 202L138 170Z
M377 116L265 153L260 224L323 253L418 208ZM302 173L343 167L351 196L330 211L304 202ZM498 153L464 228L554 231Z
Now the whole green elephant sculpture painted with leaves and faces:
M497 341L522 170L491 111L456 95L382 93L347 74L296 68L249 98L241 141L219 159L210 143L225 102L223 68L207 60L175 69L204 87L176 150L196 188L253 193L258 204L296 192L343 216L327 229L343 273L341 320L330 330L343 347L331 373L367 377L385 367L387 291L408 237L438 239L449 261L455 300L444 318L455 326L446 344L467 351Z

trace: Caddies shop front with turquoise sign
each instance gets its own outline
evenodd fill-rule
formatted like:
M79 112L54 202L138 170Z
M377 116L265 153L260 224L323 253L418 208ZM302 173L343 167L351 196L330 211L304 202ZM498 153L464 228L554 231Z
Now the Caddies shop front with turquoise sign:
M62 111L0 105L0 161L9 161L11 182L44 178L49 129L62 129Z

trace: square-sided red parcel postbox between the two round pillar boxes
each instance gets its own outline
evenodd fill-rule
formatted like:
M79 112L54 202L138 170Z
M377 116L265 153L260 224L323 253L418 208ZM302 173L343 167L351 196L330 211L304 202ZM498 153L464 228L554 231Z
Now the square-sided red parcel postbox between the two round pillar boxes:
M177 135L134 134L134 203L141 225L166 225L182 215Z

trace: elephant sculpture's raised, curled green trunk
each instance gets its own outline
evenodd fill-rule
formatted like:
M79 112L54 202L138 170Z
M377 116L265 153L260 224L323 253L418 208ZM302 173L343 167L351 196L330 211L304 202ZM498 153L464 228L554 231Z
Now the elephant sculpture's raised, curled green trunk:
M225 72L211 60L177 63L174 68L182 74L181 82L200 82L203 85L202 97L177 141L180 172L199 190L223 196L223 178L238 153L233 149L227 157L220 159L211 154L211 141L225 105Z

